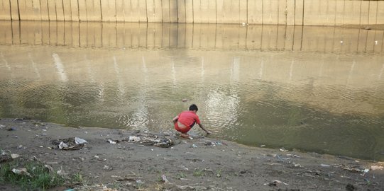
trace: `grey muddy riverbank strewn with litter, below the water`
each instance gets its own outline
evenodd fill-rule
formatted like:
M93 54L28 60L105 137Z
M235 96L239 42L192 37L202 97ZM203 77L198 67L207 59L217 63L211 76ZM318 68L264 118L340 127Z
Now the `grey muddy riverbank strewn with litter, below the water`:
M87 143L78 150L57 148L57 140L75 137ZM167 139L173 145L148 143ZM382 162L254 148L207 137L182 139L175 132L1 118L0 149L84 177L82 183L53 190L97 190L97 184L102 184L99 190L384 190ZM9 185L0 185L0 190L7 189Z

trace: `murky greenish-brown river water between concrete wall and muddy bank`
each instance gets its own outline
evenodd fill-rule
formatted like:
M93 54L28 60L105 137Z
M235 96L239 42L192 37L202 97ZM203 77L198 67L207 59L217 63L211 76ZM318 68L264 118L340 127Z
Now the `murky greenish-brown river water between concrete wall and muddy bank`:
M170 132L195 103L211 137L384 161L383 30L0 27L0 117Z

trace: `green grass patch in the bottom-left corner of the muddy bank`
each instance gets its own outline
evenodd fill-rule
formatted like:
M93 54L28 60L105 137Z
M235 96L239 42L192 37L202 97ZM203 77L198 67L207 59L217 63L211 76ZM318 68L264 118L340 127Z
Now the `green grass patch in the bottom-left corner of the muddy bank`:
M13 173L13 169L25 168L28 173ZM48 189L63 185L64 178L55 172L50 172L43 163L37 161L14 160L2 163L0 166L0 183L19 185L24 190Z

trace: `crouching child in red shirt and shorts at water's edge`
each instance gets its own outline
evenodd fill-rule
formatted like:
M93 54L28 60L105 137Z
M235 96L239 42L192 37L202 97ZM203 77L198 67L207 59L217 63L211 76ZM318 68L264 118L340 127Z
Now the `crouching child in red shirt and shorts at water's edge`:
M207 134L211 134L207 129L204 128L202 123L199 120L199 116L196 115L197 105L190 105L190 110L180 112L179 115L177 115L175 118L173 118L173 123L175 124L175 129L177 132L181 132L181 137L190 137L187 132L192 129L195 123L199 125L200 128L204 130L204 132L207 132Z

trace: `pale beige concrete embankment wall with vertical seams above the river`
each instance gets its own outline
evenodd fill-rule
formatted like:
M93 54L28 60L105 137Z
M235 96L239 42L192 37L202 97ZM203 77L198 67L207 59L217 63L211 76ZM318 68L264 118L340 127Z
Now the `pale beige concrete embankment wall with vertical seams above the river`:
M0 0L0 20L376 25L384 1Z

